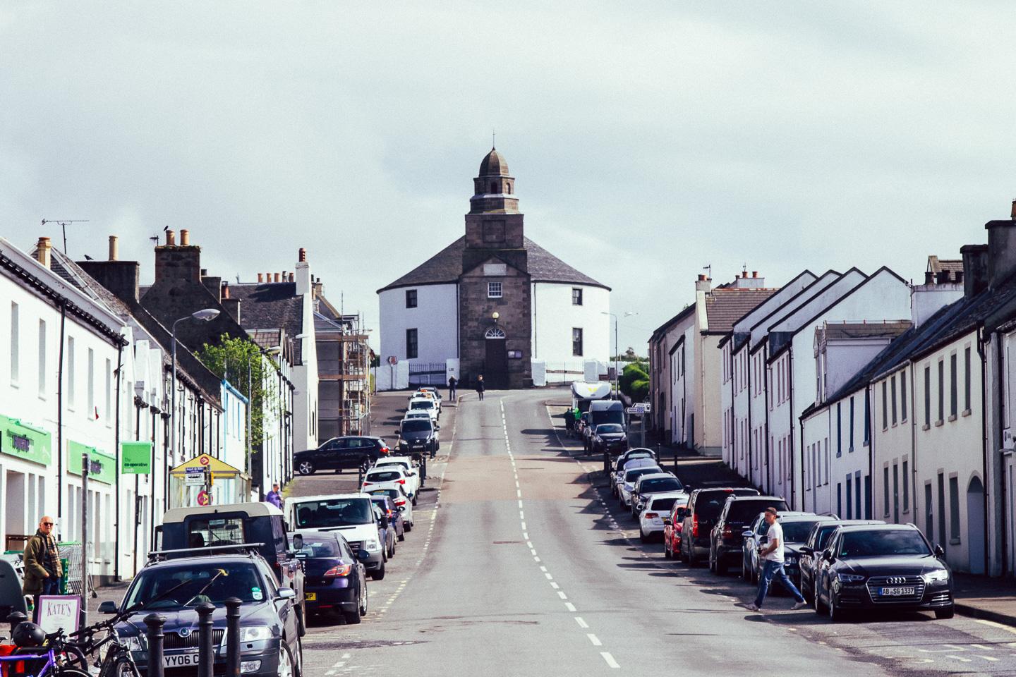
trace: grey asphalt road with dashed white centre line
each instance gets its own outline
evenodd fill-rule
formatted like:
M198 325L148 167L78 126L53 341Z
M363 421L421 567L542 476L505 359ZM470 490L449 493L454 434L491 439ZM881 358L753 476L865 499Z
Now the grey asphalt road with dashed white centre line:
M362 624L312 624L308 677L1016 674L1016 628L990 621L896 614L833 624L789 611L786 596L747 611L739 604L752 587L639 543L637 525L597 486L599 464L578 458L555 426L548 404L566 397L468 393L446 407L418 528L385 580L369 583ZM404 401L378 398L376 433L390 433ZM315 476L295 490L355 481Z

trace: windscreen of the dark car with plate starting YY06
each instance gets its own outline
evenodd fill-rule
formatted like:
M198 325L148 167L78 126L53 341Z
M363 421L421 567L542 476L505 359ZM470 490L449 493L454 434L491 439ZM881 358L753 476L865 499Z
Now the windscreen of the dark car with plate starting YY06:
M246 603L260 602L266 595L264 583L250 562L209 560L141 569L125 606L140 603L143 609L181 609L211 602L221 607L231 597Z

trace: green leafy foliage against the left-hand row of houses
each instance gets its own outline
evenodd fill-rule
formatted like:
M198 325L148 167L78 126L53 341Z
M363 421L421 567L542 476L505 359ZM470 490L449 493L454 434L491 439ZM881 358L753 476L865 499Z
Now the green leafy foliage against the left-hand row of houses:
M212 374L229 381L251 403L251 446L260 447L264 439L265 405L272 406L277 399L274 391L264 387L265 380L273 377L275 369L270 362L262 359L261 348L251 341L224 334L215 345L205 343L197 357Z

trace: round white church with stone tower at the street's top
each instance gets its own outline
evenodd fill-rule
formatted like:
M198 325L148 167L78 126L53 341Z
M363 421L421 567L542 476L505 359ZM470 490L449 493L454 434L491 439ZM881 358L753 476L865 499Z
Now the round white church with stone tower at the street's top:
M457 361L463 388L481 375L488 388L523 388L533 362L550 381L577 381L585 361L608 359L611 288L526 238L522 219L515 179L492 148L465 234L378 289L382 363L440 375Z

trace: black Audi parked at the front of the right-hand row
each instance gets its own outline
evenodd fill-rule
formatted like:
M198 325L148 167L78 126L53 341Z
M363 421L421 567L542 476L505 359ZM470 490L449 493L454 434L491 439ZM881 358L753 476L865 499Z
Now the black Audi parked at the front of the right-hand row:
M912 524L840 527L822 551L815 610L833 620L844 612L934 611L952 618L952 571L942 547Z

